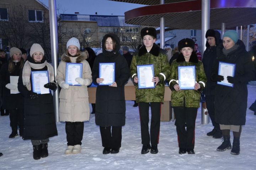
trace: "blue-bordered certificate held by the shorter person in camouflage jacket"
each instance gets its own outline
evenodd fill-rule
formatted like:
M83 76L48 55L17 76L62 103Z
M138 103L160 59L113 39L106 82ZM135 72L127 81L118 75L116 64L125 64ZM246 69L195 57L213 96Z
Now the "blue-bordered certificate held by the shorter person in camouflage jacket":
M196 84L195 66L178 66L178 85L181 90L194 90Z

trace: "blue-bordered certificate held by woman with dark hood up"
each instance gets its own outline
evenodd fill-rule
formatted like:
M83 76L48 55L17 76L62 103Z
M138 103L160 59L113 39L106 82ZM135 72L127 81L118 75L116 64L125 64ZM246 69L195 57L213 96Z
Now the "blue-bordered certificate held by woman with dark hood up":
M115 81L115 63L99 63L99 78L104 79L99 85L111 85Z

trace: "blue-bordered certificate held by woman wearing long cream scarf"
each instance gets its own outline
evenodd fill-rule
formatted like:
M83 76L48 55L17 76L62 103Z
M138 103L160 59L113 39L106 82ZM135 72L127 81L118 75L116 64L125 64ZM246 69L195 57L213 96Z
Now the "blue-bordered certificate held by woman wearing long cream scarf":
M37 94L48 94L50 89L44 85L49 83L48 71L31 72L32 91Z

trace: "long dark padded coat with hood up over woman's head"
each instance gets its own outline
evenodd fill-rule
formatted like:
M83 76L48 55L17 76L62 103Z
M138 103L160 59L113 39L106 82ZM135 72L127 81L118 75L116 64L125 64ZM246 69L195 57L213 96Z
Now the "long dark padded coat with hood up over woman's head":
M95 61L92 69L92 81L97 84L99 77L99 63L115 63L115 81L117 87L97 86L96 90L96 125L102 127L124 126L126 103L124 100L124 84L129 78L129 68L125 58L119 54L119 38L115 34L107 34L102 40L105 43L107 36L113 37L116 41L116 48L109 52L104 48Z

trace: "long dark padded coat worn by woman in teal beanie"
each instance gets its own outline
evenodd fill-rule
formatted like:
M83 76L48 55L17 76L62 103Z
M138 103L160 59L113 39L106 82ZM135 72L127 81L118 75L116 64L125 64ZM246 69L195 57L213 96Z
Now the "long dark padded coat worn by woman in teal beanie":
M219 62L234 63L235 78L239 83L234 83L233 87L217 84L215 87L215 121L224 125L245 125L247 108L247 83L254 77L254 65L245 45L238 40L238 49L229 52L225 56L222 52L223 45L217 47L217 59L213 67L214 74L218 74ZM214 79L213 79L214 80Z

